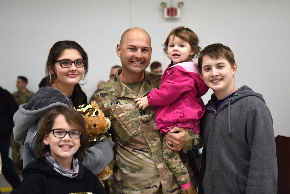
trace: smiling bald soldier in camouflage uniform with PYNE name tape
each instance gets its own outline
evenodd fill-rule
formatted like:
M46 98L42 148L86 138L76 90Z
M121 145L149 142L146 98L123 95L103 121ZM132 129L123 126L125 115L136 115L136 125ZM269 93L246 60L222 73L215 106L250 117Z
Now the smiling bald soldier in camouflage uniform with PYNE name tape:
M117 55L121 58L122 69L91 99L97 101L112 122L111 134L115 142L113 193L180 193L175 176L163 160L164 134L156 129L155 107L148 106L143 111L134 102L161 84L161 75L145 70L151 59L151 39L147 32L139 28L125 31L117 45ZM180 133L167 135L167 141L174 143L172 150L181 150L180 158L189 169L195 186L184 152L200 144L201 138L182 128L173 130Z

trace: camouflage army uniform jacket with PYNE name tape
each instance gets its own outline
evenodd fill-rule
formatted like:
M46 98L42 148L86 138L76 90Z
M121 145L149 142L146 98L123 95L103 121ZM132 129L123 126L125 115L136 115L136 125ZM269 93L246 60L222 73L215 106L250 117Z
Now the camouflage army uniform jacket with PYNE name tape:
M100 86L91 100L97 104L111 122L111 134L115 142L114 193L180 193L180 186L162 156L162 141L155 124L155 106L144 111L136 107L134 100L146 96L161 84L161 75L147 72L138 95L120 80L118 74ZM187 131L184 151L196 143L192 131ZM180 157L187 165L184 152ZM191 169L191 168L190 168ZM195 186L193 173L190 173Z

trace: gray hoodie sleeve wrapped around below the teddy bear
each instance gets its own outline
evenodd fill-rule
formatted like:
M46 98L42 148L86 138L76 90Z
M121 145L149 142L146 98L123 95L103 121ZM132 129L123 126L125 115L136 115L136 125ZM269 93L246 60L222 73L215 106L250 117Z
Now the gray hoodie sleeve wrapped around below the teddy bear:
M114 142L106 138L99 143L85 149L84 167L94 174L99 174L113 160Z

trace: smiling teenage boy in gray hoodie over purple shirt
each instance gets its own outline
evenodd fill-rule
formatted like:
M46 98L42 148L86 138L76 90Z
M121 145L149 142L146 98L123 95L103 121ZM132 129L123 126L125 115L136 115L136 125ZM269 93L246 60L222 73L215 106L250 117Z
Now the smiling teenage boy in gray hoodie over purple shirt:
M237 64L229 47L205 47L198 66L214 92L201 122L199 193L277 193L273 120L262 95L235 86Z

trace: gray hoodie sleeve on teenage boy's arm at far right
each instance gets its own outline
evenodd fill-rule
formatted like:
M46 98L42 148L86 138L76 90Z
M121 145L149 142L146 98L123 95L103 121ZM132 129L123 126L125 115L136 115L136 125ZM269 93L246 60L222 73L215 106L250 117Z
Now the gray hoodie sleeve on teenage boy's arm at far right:
M277 157L273 120L259 100L247 116L247 140L251 151L247 193L277 193Z

